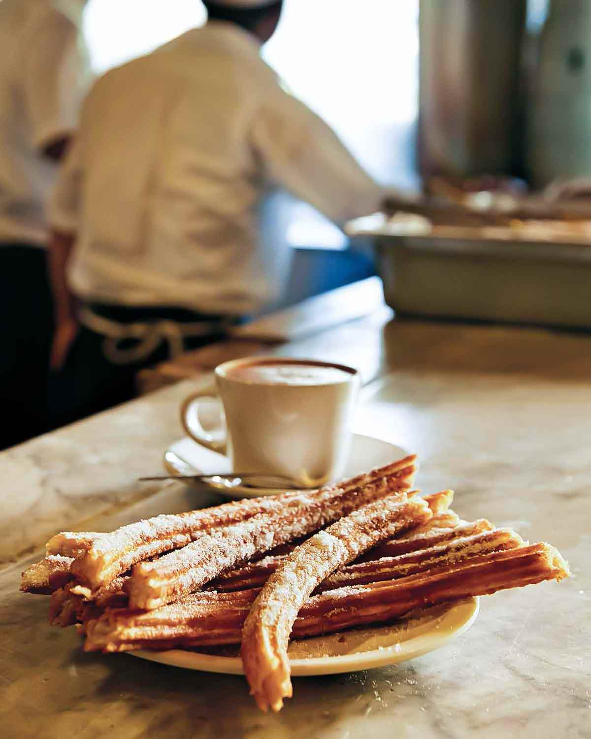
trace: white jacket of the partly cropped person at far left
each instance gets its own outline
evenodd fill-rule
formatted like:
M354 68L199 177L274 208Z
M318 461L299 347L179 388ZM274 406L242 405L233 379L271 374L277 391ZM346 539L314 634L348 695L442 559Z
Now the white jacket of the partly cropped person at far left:
M75 0L0 2L0 246L47 240L44 209L57 166L42 149L75 129L89 82L82 7Z

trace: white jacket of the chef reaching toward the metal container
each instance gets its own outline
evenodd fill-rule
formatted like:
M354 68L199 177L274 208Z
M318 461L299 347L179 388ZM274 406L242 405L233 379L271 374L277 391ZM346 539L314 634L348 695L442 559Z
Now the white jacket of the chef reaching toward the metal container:
M212 21L107 72L50 208L55 228L78 234L72 290L110 304L256 310L277 292L257 218L269 183L335 221L382 197L233 24Z

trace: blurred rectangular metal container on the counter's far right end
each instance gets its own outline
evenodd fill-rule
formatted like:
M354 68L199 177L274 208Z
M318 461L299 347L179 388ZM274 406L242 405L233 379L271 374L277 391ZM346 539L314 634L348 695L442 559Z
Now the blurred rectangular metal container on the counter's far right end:
M372 240L397 313L591 328L591 245L379 233Z

